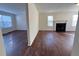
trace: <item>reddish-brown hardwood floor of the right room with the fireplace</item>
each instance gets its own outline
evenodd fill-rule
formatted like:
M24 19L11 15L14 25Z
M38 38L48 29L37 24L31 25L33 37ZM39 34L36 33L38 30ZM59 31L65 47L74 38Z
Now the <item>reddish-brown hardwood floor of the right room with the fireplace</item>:
M40 31L25 55L31 56L70 56L74 32Z

